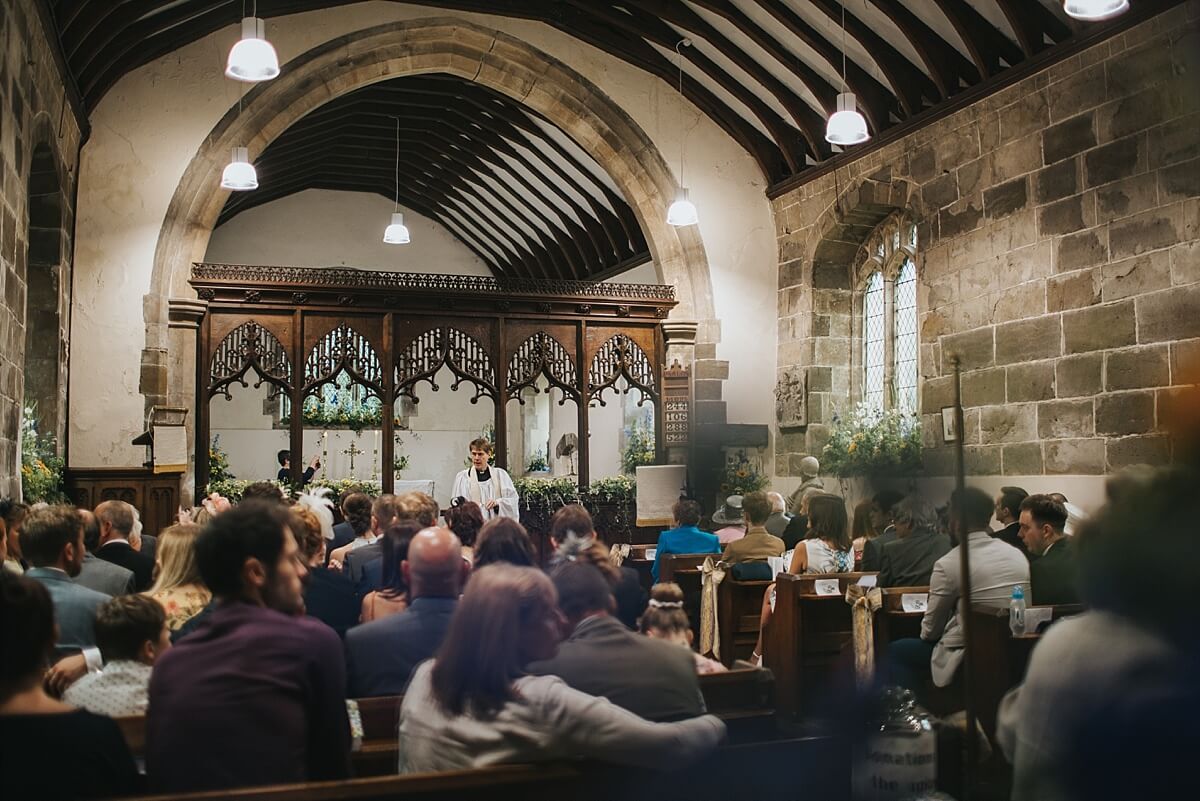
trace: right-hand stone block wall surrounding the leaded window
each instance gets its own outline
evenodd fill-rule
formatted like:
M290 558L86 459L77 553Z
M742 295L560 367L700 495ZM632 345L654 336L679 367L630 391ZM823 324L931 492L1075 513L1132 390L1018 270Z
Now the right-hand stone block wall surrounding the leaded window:
M895 210L918 222L928 474L954 464L950 354L971 474L1169 459L1200 360L1198 77L1188 2L779 197L778 369L808 371L809 424L779 432L776 472L860 397L854 264Z

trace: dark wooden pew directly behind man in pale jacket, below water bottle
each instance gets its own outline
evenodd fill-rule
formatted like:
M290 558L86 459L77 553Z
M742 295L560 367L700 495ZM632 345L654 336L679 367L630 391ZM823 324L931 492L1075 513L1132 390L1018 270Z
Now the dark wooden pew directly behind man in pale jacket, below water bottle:
M1051 622L1084 610L1075 603L1060 604L1051 609ZM976 649L971 697L979 723L992 740L996 737L996 712L1000 701L1004 693L1025 680L1030 655L1040 639L1039 632L1014 637L1008 627L1008 609L974 607L971 610L971 645Z

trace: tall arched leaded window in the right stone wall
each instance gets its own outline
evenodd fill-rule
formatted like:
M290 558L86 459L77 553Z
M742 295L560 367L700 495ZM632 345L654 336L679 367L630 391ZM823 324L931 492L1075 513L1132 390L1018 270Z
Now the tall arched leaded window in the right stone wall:
M860 396L876 409L916 414L919 398L917 336L917 227L894 215L864 243L858 271L862 345Z

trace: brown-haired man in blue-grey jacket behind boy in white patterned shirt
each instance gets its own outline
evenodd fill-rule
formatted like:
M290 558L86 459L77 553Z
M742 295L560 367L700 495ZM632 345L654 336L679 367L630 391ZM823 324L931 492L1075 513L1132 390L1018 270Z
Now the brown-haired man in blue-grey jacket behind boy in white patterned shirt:
M54 621L59 626L56 654L66 656L95 646L96 609L109 596L71 580L83 565L79 513L70 506L30 512L20 529L20 544L34 565L25 577L46 585L54 601Z

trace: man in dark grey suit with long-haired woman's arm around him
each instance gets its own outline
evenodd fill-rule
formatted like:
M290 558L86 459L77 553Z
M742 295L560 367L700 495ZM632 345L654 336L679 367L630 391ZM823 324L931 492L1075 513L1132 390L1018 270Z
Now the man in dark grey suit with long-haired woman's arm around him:
M629 631L612 615L612 585L598 567L569 562L553 579L571 633L553 658L534 662L529 673L559 676L648 721L704 713L690 649Z

